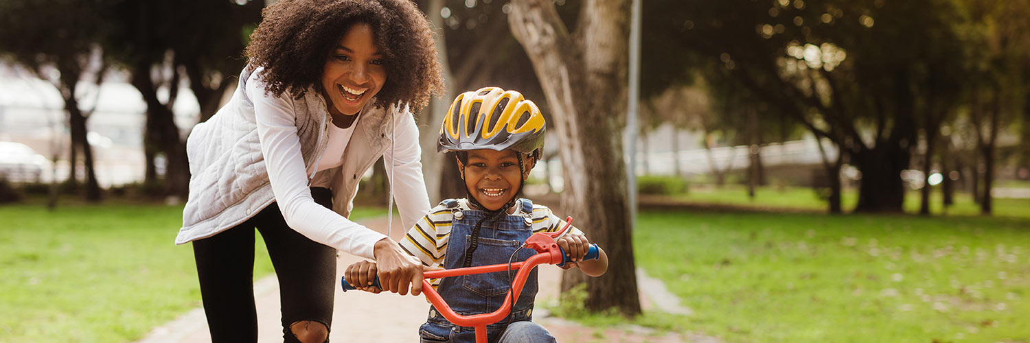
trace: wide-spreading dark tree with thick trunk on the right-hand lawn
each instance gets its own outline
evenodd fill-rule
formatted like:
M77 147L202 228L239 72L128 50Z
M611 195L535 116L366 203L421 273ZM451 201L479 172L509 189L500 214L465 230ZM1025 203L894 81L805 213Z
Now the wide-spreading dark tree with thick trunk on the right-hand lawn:
M945 0L652 2L656 40L721 64L755 98L826 139L862 173L857 211L901 211L900 171L961 41ZM650 19L648 19L650 15ZM647 29L646 29L647 31ZM839 163L827 163L831 175Z

